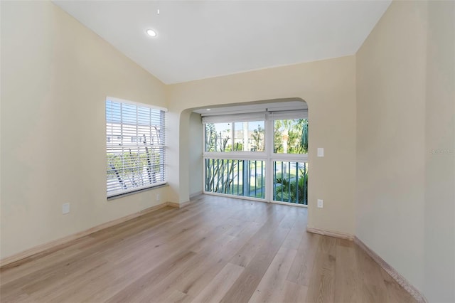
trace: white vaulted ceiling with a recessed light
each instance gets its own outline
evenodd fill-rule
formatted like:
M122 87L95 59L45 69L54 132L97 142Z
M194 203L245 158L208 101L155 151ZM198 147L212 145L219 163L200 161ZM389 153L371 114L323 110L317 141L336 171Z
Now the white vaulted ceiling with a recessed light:
M54 1L166 84L353 55L390 2Z

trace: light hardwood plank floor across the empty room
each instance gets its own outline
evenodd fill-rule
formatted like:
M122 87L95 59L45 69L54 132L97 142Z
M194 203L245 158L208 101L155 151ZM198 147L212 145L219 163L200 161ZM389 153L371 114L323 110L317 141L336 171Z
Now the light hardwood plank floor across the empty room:
M1 302L414 302L306 208L200 196L0 271Z

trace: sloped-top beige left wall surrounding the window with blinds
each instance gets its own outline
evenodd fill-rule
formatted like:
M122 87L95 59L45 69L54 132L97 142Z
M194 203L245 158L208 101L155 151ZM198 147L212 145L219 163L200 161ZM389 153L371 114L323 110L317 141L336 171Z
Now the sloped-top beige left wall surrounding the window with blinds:
M1 258L167 200L106 200L106 96L166 107L159 80L54 4L1 1Z

